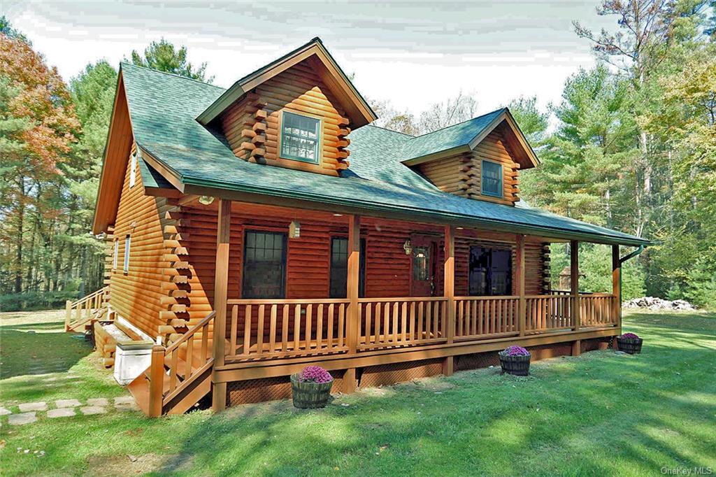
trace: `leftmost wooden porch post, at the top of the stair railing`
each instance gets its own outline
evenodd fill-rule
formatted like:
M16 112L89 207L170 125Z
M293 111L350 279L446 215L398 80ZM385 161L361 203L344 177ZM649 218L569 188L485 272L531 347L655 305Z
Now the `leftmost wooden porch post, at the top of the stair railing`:
M216 412L226 408L226 382L216 382L216 367L223 366L226 345L226 295L228 293L228 252L231 240L231 201L218 199L216 224L216 275L214 278L214 318L211 408Z

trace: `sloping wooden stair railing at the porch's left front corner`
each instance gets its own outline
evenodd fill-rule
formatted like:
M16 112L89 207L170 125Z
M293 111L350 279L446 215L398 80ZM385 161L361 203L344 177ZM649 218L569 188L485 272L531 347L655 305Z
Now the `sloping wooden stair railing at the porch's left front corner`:
M214 362L211 354L214 317L216 312L211 312L167 348L160 344L153 347L149 370L150 415L162 415L163 409L175 397L211 368Z

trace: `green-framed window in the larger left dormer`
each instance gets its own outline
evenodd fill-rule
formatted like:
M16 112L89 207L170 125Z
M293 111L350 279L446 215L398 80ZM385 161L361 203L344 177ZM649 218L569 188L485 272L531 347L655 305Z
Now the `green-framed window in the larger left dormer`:
M320 162L321 120L284 111L281 121L281 158Z

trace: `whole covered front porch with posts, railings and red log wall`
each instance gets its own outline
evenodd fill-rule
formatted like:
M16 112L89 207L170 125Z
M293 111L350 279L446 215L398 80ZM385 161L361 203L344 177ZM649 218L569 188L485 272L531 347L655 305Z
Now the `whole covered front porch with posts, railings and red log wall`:
M451 375L455 357L461 355L493 352L511 344L524 347L569 344L571 352L579 354L582 340L599 339L600 346L606 346L611 337L621 332L620 260L619 245L616 244L612 245L611 254L611 293L579 293L579 240L570 238L569 233L546 236L520 233L513 226L510 226L513 231L495 231L468 223L399 220L392 220L392 227L389 227L384 218L368 214L326 213L246 203L233 203L232 206L232 201L221 199L216 199L211 206L199 206L194 202L186 203L185 207L187 213L190 208L198 208L202 213L212 211L216 217L216 261L213 280L206 281L213 285L208 296L216 317L213 322L208 319L200 322L206 329L211 326L214 330L224 330L225 339L212 340L211 381L216 410L226 407L228 384L286 377L309 364L337 372L341 378L340 390L352 392L358 385L360 370L367 367L440 360L440 371ZM289 229L301 227L301 223L313 223L311 231L323 227L328 237L344 236L347 240L346 266L341 271L345 273L344 296L330 297L335 295L335 290L321 285L317 288L322 291L300 291L300 286L284 288L281 290L284 297L242 297L251 287L247 288L246 276L236 276L236 269L246 271L242 262L246 260L247 244L241 244L243 252L237 257L234 235L261 228L258 221L247 218L247 213L283 221L289 244L303 233L291 236L294 230ZM240 230L237 223L241 223ZM272 231L276 227L281 228L274 224L266 230ZM400 241L394 242L403 246L398 253L408 257L410 266L402 275L382 276L377 284L372 279L373 274L384 274L387 261L400 259L397 255L391 258L389 254L377 260L385 261L383 266L372 262L366 265L362 254L374 256L381 250L384 253L386 248L395 248L395 243L388 244L378 238L389 228L392 232L404 231L402 235L396 232ZM190 233L195 233L195 227ZM367 244L362 240L366 236ZM402 236L408 238L405 243L402 243ZM435 249L427 246L427 249L416 252L417 246L424 244L415 240L411 244L410 238L415 236L432 237ZM479 266L475 271L472 263L465 264L465 254L456 260L456 242L475 241L484 249L485 237L495 249L510 251L508 282L490 284L490 291L498 293L487 296L463 294L480 289L484 284L480 281ZM191 238L194 240L196 236ZM564 241L571 243L572 251L570 291L551 289L544 276L548 274L548 268L544 264L535 264L533 256L526 252L537 244L542 247ZM304 249L302 253L324 256L323 263L329 267L324 273L332 274L335 271L330 268L335 264L329 259L331 242L323 243L322 249ZM408 250L411 247L412 250ZM431 256L427 262L423 260L425 257L416 256L423 252ZM286 282L298 282L292 275L296 269L304 274L311 273L306 264L290 258L291 251L282 253L289 256L288 260L284 259ZM191 245L188 255L191 261ZM426 278L423 262L431 283L422 284L421 288L420 281ZM456 267L462 270L457 275ZM469 276L468 281L459 285L463 293L456 294L456 276L465 274ZM477 278L473 280L470 274ZM193 277L194 280L198 278ZM421 290L424 293L393 296L395 286L391 283L396 280L410 282L406 295ZM248 282L249 285L253 283ZM330 280L332 286L336 283L340 280ZM530 284L530 292L526 291L526 283ZM380 295L381 289L385 290L385 296ZM299 292L304 296L296 296ZM178 352L179 347L175 350ZM171 359L169 355L168 358Z

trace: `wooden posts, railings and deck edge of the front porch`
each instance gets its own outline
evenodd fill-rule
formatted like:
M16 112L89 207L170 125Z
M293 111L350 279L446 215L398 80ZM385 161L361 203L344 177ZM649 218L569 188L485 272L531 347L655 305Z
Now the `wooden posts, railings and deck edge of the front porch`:
M326 221L347 222L345 298L328 298L328 293L319 298L231 298L229 271L236 267L229 259L232 206L231 201L217 202L212 297L216 317L213 323L203 325L225 330L225 339L213 339L211 383L215 410L226 407L227 385L231 383L286 377L306 365L321 365L334 372L340 377L340 389L336 390L352 392L358 385L360 370L369 367L439 360L440 371L451 375L455 357L461 355L494 352L511 344L568 344L573 354L579 354L582 340L598 339L606 346L609 338L621 332L618 245L612 246L611 293L578 293L578 241L500 233L503 241L513 244L508 247L512 254L512 293L456 296L456 233L473 231L480 235L490 231L455 223L431 225L441 232L436 236L442 249L435 254L439 258L437 286L431 287L437 296L364 297L360 289L366 287L362 281L369 280L370 272L362 277L366 272L362 271L361 254L366 251L361 244L361 226L362 221L372 219L358 214L335 214L337 217L332 219L321 216ZM299 215L299 211L292 211L286 217ZM420 229L419 224L405 226ZM526 273L536 271L526 265L526 244L552 241L571 242L571 291L545 289L528 294ZM370 247L367 250L367 254L372 253ZM465 268L465 264L462 266ZM415 278L412 265L408 273L411 280ZM397 277L400 278L405 279ZM175 347L175 352L179 350Z

